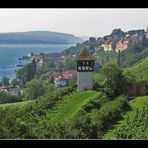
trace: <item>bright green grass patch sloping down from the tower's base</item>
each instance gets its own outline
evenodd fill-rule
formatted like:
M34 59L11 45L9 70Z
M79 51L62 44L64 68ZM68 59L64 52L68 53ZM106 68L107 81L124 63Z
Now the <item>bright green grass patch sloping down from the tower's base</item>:
M98 93L95 91L81 91L65 96L53 109L50 109L42 121L51 123L63 122L74 118L81 108Z

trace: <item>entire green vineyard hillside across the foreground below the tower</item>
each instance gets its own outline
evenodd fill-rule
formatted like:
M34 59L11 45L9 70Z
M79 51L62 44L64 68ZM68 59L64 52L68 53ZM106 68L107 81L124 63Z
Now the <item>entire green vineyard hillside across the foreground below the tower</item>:
M146 139L147 99L109 100L103 92L60 88L36 100L0 105L0 138Z

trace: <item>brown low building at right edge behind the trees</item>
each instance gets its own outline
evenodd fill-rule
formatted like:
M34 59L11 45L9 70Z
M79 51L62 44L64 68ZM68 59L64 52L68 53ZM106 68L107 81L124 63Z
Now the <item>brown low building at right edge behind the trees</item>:
M128 88L129 96L143 96L148 95L148 83L133 84Z

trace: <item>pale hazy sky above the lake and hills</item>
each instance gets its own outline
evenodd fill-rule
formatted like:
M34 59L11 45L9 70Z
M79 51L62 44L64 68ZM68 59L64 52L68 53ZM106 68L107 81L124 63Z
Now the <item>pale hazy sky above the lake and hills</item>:
M148 9L0 9L0 32L56 31L103 36L113 29L146 29Z

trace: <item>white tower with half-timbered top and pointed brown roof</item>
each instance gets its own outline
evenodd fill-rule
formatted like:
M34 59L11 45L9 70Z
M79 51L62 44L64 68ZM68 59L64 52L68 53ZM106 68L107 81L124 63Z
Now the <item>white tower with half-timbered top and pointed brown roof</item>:
M77 90L92 89L92 74L95 58L84 48L77 56Z

